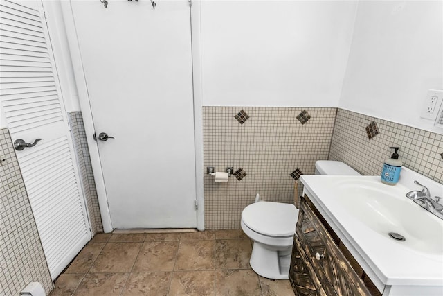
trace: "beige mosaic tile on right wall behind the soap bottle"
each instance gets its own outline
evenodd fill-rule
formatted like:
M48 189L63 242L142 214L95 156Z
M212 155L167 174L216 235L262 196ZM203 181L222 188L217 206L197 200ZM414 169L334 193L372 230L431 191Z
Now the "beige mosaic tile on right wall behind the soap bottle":
M379 133L369 139L365 127L372 121ZM362 175L380 175L392 154L390 146L400 147L404 166L443 184L442 134L338 109L329 159L345 162Z

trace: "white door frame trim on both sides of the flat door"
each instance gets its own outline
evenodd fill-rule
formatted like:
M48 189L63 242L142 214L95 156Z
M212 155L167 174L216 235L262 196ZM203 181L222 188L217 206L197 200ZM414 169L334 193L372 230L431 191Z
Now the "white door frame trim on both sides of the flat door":
M183 0L186 1L186 0ZM189 0L190 2L190 0ZM197 1L198 3L199 1ZM190 2L191 3L191 2ZM204 230L204 182L203 182L203 114L201 100L201 42L200 42L200 4L192 3L190 6L190 30L191 30L191 51L192 51L192 80L193 80L193 105L194 105L194 149L195 149L195 185L197 209L197 229ZM87 143L91 156L92 170L98 195L98 204L102 217L104 232L112 232L111 214L109 213L108 199L103 177L102 166L98 145L93 140L92 135L96 132L93 123L91 105L89 103L89 92L87 80L84 74L82 55L78 42L77 30L73 17L73 10L70 1L60 1L66 37L71 51L71 60L77 86L80 110L82 111L84 129L88 135ZM102 7L98 6L98 9Z

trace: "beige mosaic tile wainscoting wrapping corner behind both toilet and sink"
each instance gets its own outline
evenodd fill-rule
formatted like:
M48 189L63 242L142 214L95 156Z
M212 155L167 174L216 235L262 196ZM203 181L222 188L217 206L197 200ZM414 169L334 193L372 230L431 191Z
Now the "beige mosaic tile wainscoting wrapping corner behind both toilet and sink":
M318 159L379 175L389 147L399 146L404 166L443 183L442 134L336 108L203 107L203 119L206 229L238 229L257 193L293 202L294 180L313 174ZM368 126L377 128L371 139ZM207 166L235 174L216 183Z

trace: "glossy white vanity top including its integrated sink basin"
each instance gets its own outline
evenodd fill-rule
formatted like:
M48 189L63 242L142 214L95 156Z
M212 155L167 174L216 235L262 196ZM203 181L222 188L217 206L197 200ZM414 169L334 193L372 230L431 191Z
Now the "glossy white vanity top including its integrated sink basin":
M421 178L425 177L404 168L396 186L382 184L377 176L302 175L300 180L379 290L426 286L442 295L443 220L406 198L406 193L420 189L414 180L429 186L432 197L442 194L443 185ZM391 238L390 232L406 241ZM426 295L421 289L413 294Z

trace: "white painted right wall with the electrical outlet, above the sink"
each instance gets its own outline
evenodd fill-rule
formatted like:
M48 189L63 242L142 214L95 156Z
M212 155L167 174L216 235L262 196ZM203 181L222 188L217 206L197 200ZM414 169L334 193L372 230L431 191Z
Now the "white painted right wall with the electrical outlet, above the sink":
M420 119L443 89L443 1L361 1L339 107L442 133Z

